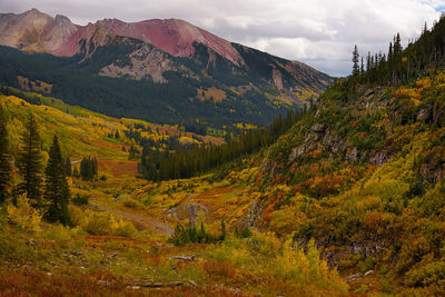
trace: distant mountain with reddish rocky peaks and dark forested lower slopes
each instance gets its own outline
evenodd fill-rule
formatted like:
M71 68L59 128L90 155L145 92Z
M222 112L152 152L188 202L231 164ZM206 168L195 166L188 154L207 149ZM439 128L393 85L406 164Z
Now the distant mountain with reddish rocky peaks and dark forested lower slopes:
M267 125L333 81L178 19L77 26L32 9L0 14L0 44L20 50L0 49L1 83L44 83L68 103L188 127Z

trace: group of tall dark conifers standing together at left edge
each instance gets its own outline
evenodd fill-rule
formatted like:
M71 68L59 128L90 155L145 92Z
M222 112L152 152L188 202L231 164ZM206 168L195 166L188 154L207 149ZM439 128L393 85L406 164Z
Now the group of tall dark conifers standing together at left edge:
M32 113L29 115L24 128L16 158L16 167L22 181L17 187L12 187L12 156L7 118L0 106L0 202L4 204L12 196L12 202L17 204L17 195L26 195L34 208L43 210L43 217L47 220L68 225L70 222L68 215L70 189L57 135L52 139L49 159L43 170L41 139ZM13 194L10 192L11 188Z

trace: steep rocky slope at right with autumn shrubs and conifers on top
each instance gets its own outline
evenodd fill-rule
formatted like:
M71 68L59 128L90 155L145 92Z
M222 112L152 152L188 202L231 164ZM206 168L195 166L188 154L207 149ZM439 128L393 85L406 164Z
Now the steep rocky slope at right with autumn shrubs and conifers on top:
M445 293L444 36L442 18L337 81L246 181L263 192L254 225L315 238L357 294Z

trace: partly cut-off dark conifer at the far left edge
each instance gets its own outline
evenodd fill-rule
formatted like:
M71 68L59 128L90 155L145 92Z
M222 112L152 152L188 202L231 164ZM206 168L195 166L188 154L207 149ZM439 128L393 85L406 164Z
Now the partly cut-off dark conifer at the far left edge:
M8 187L11 182L11 164L9 155L9 141L7 120L0 105L0 204L8 197Z

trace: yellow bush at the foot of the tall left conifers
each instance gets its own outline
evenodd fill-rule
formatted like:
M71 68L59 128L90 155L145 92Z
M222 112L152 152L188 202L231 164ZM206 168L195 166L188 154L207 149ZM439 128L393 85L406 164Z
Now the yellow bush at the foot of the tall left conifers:
M42 214L29 205L29 199L23 194L17 199L17 207L8 205L9 220L23 231L40 232Z

